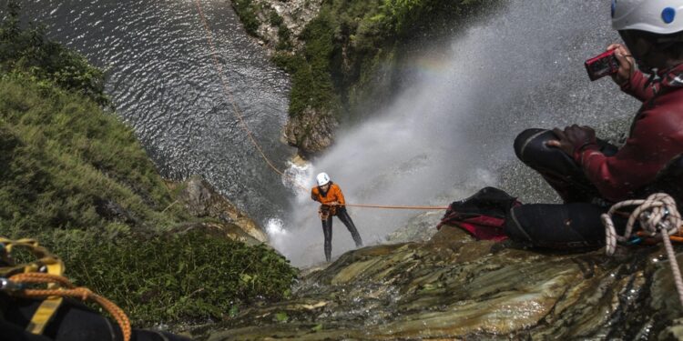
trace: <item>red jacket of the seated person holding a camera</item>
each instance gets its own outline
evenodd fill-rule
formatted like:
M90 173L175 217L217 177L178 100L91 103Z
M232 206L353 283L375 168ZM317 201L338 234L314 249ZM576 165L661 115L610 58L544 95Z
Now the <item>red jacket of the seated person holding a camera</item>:
M621 89L643 102L626 145L613 156L603 155L596 145L574 155L600 194L615 202L632 198L673 157L683 154L683 65L651 85L637 71Z

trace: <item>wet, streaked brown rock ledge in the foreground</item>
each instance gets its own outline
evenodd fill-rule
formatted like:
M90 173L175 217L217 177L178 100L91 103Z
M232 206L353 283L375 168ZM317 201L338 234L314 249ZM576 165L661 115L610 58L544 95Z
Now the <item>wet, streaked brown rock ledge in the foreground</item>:
M427 242L349 252L303 277L291 300L192 333L210 341L677 339L683 309L662 255L659 246L617 257L545 254L444 226Z

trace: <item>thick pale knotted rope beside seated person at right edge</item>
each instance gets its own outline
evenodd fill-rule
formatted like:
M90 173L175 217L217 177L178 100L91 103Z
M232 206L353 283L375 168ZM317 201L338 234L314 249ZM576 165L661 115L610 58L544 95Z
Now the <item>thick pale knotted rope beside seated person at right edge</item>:
M612 216L617 210L628 207L637 206L633 210L631 216L628 217L627 227L624 236L619 236L615 229ZM674 283L678 291L678 299L683 305L683 279L681 279L680 268L676 260L676 253L673 246L671 246L670 237L678 235L681 227L681 217L678 213L676 201L667 194L656 193L648 196L647 199L627 200L612 206L607 214L601 216L602 223L605 226L606 236L606 252L607 256L614 255L617 250L617 241L628 243L633 237L633 227L636 221L640 223L643 229L642 234L649 236L655 240L661 240L667 250L668 260L671 263L671 272L674 276ZM637 236L637 235L636 235Z

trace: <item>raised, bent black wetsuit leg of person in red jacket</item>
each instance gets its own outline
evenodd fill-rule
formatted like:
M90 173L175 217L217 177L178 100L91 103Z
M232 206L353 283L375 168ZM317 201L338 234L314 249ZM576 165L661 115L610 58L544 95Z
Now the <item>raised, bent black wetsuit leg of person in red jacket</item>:
M527 129L515 138L515 154L525 165L540 173L566 203L588 203L601 197L572 157L559 148L545 145L556 138L551 130ZM597 145L605 155L617 153L615 145L599 139Z

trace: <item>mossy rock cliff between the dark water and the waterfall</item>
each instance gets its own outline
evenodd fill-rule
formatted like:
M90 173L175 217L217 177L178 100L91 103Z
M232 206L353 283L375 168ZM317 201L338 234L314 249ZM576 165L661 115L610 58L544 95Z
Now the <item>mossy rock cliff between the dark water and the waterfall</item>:
M440 45L497 3L232 0L247 32L291 75L286 137L302 155L318 154L336 125L362 121L409 84L402 65L415 46Z

